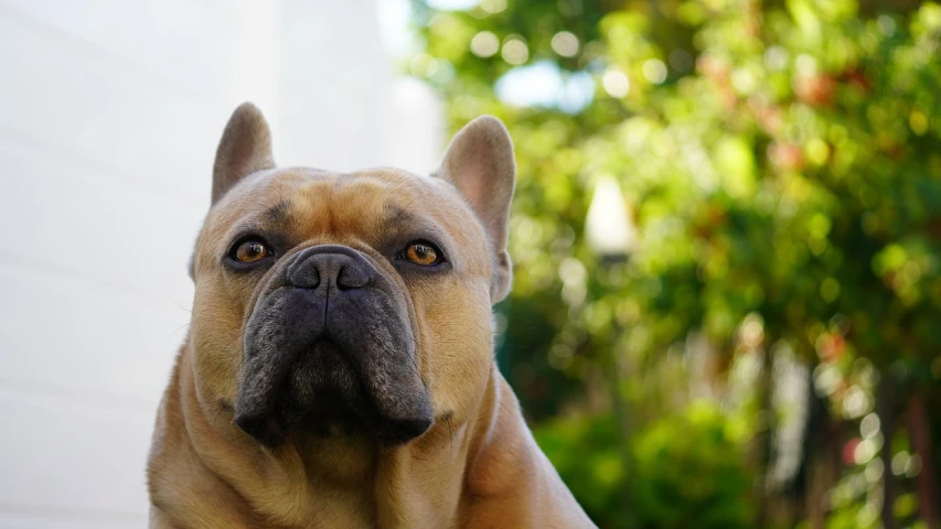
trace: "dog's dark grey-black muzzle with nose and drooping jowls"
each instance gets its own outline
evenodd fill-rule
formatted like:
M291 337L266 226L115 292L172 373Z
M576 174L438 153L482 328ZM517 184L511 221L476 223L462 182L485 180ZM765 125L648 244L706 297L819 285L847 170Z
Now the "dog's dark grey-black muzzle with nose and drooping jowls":
M333 427L400 444L431 424L404 294L360 252L287 259L245 326L235 422L275 446Z

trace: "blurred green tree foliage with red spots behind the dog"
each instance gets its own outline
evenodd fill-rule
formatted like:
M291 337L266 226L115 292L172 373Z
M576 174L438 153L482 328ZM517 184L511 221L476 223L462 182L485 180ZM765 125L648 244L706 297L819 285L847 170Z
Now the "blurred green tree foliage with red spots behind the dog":
M499 356L599 523L938 527L941 7L413 7L406 68L452 128L493 114L516 141ZM599 267L584 231L606 179L642 242ZM779 376L801 366L810 398ZM692 424L702 399L725 412Z

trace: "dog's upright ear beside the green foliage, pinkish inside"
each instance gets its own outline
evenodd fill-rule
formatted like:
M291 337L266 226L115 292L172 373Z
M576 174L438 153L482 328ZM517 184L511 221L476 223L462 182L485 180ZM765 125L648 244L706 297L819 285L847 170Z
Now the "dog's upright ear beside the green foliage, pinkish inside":
M506 251L510 202L516 185L513 141L503 123L481 116L451 140L436 175L453 184L486 230L493 250L493 303L510 292L513 269Z

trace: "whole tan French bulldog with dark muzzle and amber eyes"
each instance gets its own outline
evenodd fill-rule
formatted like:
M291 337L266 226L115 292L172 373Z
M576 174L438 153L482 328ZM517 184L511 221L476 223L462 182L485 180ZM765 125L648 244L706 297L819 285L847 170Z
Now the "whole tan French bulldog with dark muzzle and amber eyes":
M435 176L275 169L239 107L157 417L152 528L594 527L493 359L513 147L483 117Z

